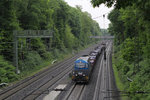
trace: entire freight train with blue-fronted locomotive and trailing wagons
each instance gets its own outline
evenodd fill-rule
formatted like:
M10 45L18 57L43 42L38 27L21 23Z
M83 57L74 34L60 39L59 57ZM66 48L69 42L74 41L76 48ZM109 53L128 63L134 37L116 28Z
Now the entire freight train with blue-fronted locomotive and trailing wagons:
M106 46L104 43L96 47L93 51L89 53L89 55L84 55L76 59L74 63L74 68L72 71L72 80L77 83L88 83L90 80L90 76L92 70L95 66L95 63L98 57L105 50Z

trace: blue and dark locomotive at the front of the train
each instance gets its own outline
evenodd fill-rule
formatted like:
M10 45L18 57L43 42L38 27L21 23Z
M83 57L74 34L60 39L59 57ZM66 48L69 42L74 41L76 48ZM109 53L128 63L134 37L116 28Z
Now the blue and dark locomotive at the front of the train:
M72 80L75 82L89 82L92 67L89 62L89 56L80 57L75 61L72 71Z

